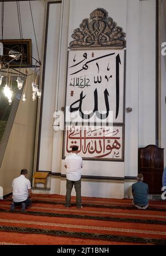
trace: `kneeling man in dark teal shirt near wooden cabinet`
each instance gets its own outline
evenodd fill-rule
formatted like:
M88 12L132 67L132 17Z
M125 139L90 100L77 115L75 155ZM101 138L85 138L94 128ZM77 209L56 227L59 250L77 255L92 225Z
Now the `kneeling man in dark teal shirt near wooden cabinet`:
M132 185L132 194L133 194L133 206L138 209L146 209L148 204L148 184L142 182L143 175L139 173L137 175L137 182Z

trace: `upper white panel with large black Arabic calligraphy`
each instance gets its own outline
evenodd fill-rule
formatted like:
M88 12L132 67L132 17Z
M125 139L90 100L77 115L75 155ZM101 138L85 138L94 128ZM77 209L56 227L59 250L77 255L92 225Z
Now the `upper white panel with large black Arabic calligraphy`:
M124 67L125 50L70 50L65 122L123 124Z

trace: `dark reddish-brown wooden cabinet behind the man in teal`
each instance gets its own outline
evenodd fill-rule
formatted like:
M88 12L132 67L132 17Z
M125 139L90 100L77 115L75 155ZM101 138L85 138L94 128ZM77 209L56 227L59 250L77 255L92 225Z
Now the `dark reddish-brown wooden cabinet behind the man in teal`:
M164 149L148 145L138 149L138 173L149 186L150 194L161 194L164 170Z

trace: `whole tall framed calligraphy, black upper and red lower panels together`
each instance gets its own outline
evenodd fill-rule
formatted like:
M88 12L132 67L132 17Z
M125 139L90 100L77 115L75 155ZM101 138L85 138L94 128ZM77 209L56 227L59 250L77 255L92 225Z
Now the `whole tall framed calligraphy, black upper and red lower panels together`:
M125 50L68 53L63 157L124 161Z

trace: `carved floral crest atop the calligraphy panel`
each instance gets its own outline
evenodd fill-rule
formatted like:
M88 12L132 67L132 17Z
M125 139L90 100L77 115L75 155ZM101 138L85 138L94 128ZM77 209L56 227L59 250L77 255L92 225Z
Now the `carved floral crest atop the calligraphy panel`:
M70 47L125 47L125 33L112 18L107 17L105 9L97 8L90 14L90 19L84 19L80 28L74 30Z

